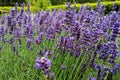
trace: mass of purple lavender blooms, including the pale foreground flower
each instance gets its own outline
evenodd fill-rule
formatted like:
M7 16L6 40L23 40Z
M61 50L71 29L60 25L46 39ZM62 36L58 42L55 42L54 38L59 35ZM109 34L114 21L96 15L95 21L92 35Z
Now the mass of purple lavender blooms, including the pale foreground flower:
M116 62L120 56L118 50L120 47L118 45L120 10L114 11L116 3L109 14L104 14L105 6L100 3L100 0L98 0L95 10L89 10L89 5L82 5L77 11L76 5L73 9L71 3L68 3L65 11L62 9L55 9L53 12L50 12L49 9L45 12L40 10L34 15L31 14L30 4L28 4L28 12L24 10L24 6L25 4L22 4L21 10L18 11L18 3L16 3L9 15L2 16L0 20L1 42L10 43L12 50L17 54L19 45L25 44L27 49L33 51L47 47L49 50L39 52L39 55L44 57L36 58L35 68L40 69L45 75L50 72L51 80L54 77L54 73L50 69L51 57L55 60L56 55L61 55L61 53L64 55L63 57L70 54L71 57L78 60L75 63L77 71L82 70L84 73L88 67L95 69L97 76L90 77L89 80L102 80L106 76L116 75L120 71L120 63ZM7 38L8 35L10 38ZM2 47L0 47L1 49ZM110 66L99 62L108 63ZM70 65L67 67L64 65L62 65L62 69L67 71ZM76 69L77 67L78 69ZM77 71L74 72L83 75ZM76 79L76 76L72 76L72 78Z

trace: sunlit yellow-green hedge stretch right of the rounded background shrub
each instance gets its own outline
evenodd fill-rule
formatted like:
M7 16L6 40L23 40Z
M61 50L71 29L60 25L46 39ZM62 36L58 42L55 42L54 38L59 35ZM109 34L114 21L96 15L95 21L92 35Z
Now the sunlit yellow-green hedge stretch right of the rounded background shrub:
M117 4L117 8L116 11L120 8L120 1L115 1ZM109 13L112 10L113 7L113 3L114 2L101 2L101 4L103 4L106 7L105 10L105 14ZM89 5L89 8L93 8L95 9L97 6L97 3L85 3L83 4L83 6ZM74 4L71 5L72 7L74 6ZM79 10L81 4L76 4L77 10ZM66 5L57 5L57 6L49 6L48 9L50 9L51 11L53 11L54 9L58 10L58 9L66 9Z

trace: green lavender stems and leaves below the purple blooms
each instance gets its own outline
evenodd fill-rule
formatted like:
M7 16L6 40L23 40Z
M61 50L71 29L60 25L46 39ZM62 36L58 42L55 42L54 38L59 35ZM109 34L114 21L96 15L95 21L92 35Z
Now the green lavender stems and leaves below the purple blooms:
M6 37L9 39L11 36L12 35L8 35ZM63 34L59 35L59 37L60 36L63 36ZM59 37L55 39L55 42ZM53 51L57 45L55 42L44 38L43 43L41 43L39 47L33 45L35 48L33 48L33 51L30 51L26 48L26 39L22 38L23 44L18 48L19 55L14 54L10 44L2 44L2 42L0 42L0 44L3 45L3 49L0 51L0 80L50 80L44 76L41 70L36 70L34 64L39 50L44 50L44 47L47 47L47 49ZM63 54L62 52L57 51L55 54L57 56L56 60L54 60L53 57L49 57L52 60L51 69L55 74L55 80L80 80L72 79L72 74L79 75L78 72L84 74L82 75L82 80L88 80L88 75L91 75L92 77L97 76L97 70L91 69L90 67L87 67L85 72L80 71L81 65L87 60L87 58L85 58L87 55L76 58L75 56L69 55L67 52ZM119 61L120 59L118 62ZM61 68L63 63L67 66L67 69L64 71ZM99 63L103 64L103 62ZM113 80L119 80L119 75L120 72L113 76Z

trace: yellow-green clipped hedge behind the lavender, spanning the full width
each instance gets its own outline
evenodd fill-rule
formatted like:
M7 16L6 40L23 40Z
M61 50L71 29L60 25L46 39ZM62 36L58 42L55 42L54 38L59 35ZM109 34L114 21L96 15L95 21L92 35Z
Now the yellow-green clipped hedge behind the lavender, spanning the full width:
M106 7L106 10L105 10L106 14L112 10L113 3L114 2L102 2L102 4L105 5L105 7ZM117 3L116 10L118 10L120 8L120 1L116 1L116 3ZM86 3L86 4L83 4L83 5L86 6L87 4L89 4L90 8L96 8L96 6L97 6L97 3ZM74 6L74 4L72 5L72 7L73 6ZM81 4L76 4L77 10L79 10L80 6L81 6ZM11 8L12 8L11 6L0 7L0 14L9 13ZM20 7L18 7L18 9L20 10ZM50 9L51 11L53 11L54 9L57 9L57 10L58 9L63 9L63 10L65 10L66 6L65 5L49 6L46 9ZM25 10L27 11L27 7L25 7ZM31 7L31 11L34 12L34 13L39 11L39 10L40 10L40 7L36 7L36 6ZM45 10L45 9L43 9L43 10Z

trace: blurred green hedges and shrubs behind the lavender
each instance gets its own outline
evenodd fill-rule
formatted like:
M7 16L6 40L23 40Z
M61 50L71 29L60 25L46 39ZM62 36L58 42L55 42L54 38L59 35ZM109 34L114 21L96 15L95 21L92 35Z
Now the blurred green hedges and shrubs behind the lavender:
M90 3L91 7L96 6L96 2L98 0L0 0L0 14L9 13L10 9L15 5L16 2L18 2L19 6L21 6L22 3L28 3L31 4L31 11L32 12L38 12L40 9L46 10L50 9L53 10L54 8L59 9L65 9L65 3L71 2L71 3L77 3L77 7L79 8L79 4L82 3ZM113 6L113 2L117 2L118 8L120 7L120 0L101 0L101 2L104 2L106 5L107 10L110 11L111 7ZM18 7L20 10L20 7ZM27 10L27 5L25 6L25 9ZM107 12L108 12L107 11Z

